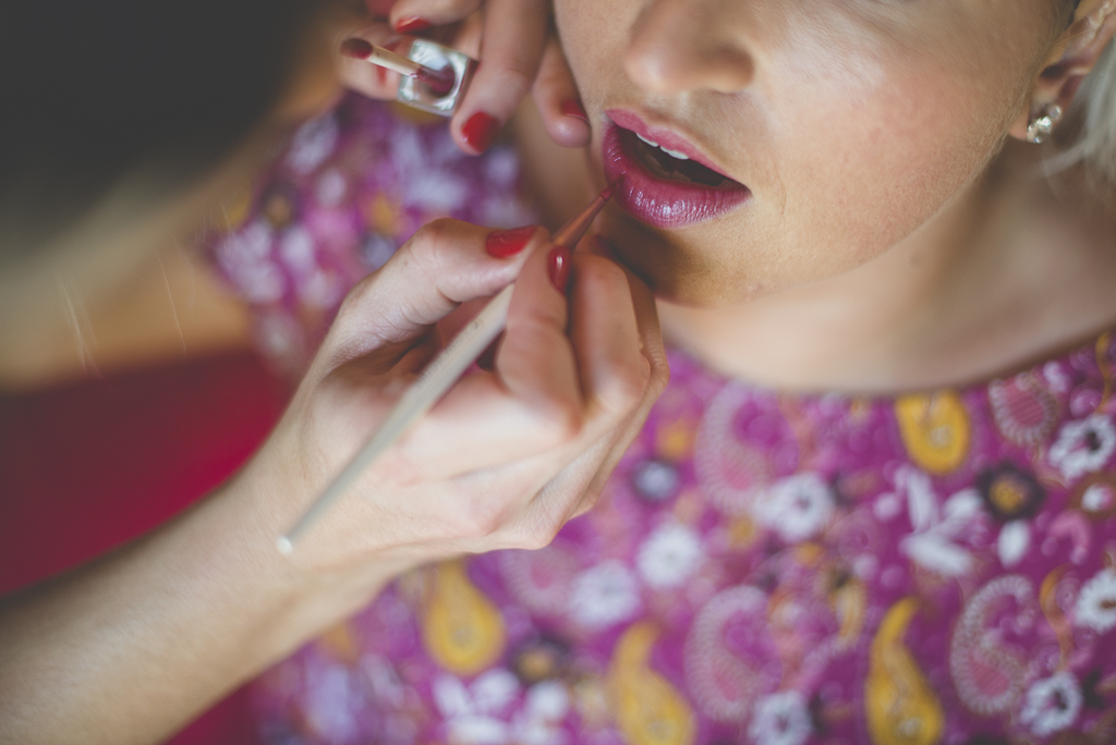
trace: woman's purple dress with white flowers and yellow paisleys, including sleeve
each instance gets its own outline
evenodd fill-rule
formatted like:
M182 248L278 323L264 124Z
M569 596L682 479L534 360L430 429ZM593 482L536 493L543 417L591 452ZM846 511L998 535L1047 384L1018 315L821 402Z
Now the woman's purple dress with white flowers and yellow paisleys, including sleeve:
M325 297L307 296L307 275L328 267L352 281L346 262L382 263L369 244L397 244L430 214L400 196L427 173L377 165L400 142L422 141L407 157L423 167L471 168L451 213L526 215L513 158L492 166L502 152L464 161L444 130L357 99L333 120L345 116L337 142L350 144L335 142L297 187L326 188L337 163L359 172L357 157L375 162L364 166L375 183L362 175L348 201L269 223L267 250L253 249L252 271L285 282L260 307L291 328L308 328L299 303ZM263 217L211 242L242 292L251 271L235 274L223 252L262 245L247 236L275 188L248 210ZM504 206L478 207L482 194ZM375 207L369 217L379 200L395 232ZM347 249L316 232L319 209L348 215ZM282 246L302 229L319 259L296 270ZM402 577L258 680L261 734L277 745L1114 743L1114 360L1106 333L987 384L868 398L783 394L672 352L671 383L593 511L545 549Z

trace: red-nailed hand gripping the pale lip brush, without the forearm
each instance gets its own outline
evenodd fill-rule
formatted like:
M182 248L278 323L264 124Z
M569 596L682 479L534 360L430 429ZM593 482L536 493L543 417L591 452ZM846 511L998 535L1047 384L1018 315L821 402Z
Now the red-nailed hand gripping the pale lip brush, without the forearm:
M328 575L539 548L591 505L667 369L647 287L602 255L557 251L560 268L541 229L493 234L437 221L349 293L282 422L239 477L259 491L276 536L442 346L436 325L460 326L460 303L519 273L491 370L466 374L367 470L296 544L296 567ZM567 272L568 299L557 287Z

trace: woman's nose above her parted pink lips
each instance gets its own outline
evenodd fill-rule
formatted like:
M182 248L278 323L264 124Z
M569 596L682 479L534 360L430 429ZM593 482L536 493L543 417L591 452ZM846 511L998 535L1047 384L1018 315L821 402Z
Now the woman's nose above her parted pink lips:
M650 0L624 54L628 77L663 95L748 87L756 62L740 33L740 8L732 7L742 1Z

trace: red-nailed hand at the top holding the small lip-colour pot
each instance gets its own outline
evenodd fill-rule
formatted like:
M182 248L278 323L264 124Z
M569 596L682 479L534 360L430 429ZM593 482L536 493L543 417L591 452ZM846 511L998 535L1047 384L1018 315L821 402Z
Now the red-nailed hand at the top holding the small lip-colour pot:
M382 46L398 39L395 31L419 33L459 25L452 40L437 40L482 62L450 125L464 152L488 149L528 93L556 143L567 147L589 143L585 109L550 27L549 0L366 0L365 4L374 22L347 33ZM377 74L359 60L339 58L338 64L348 87L374 98L395 97L396 76Z

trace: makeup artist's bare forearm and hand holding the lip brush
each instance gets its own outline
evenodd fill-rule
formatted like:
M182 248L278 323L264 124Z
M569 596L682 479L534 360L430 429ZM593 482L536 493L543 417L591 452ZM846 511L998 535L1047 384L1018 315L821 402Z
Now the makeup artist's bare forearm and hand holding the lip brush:
M578 254L567 299L543 231L498 238L513 255L493 258L488 231L462 223L420 231L346 299L237 476L142 540L3 602L0 743L157 742L400 571L541 546L588 507L665 384L652 297ZM528 239L538 250L511 251ZM280 555L276 536L439 346L432 325L520 267L493 369L459 381Z

